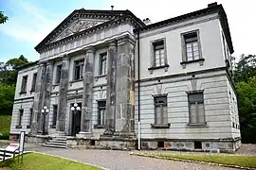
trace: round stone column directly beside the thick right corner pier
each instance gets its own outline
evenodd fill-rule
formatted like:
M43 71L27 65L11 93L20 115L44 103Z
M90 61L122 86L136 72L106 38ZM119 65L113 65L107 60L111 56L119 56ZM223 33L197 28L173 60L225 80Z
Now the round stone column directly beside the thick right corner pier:
M109 43L107 57L106 128L104 135L113 135L115 131L117 49L117 42Z

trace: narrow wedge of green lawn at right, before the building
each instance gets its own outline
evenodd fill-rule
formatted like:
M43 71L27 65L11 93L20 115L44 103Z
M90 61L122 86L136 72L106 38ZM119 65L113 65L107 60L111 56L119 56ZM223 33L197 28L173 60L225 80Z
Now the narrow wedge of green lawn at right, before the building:
M256 157L252 156L230 156L230 155L171 155L171 154L137 154L139 156L181 159L191 161L206 161L219 164L238 165L244 167L256 167Z

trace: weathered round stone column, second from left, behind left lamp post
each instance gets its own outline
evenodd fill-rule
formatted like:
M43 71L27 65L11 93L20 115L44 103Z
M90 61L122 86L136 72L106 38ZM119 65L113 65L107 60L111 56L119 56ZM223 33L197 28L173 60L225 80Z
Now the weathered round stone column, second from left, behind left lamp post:
M51 93L52 79L53 79L52 76L53 76L53 60L48 60L46 63L46 76L45 76L46 86L44 90L44 106L46 106L48 110L50 109L50 93ZM48 130L48 117L49 117L49 113L46 115L46 124L45 124L46 131ZM43 117L42 117L42 121L44 121Z

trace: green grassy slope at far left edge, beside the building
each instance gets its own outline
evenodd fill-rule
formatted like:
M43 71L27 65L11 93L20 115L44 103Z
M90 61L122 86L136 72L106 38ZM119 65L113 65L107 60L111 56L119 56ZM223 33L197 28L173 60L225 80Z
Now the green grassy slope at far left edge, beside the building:
M9 140L9 127L10 127L11 115L0 115L0 139Z

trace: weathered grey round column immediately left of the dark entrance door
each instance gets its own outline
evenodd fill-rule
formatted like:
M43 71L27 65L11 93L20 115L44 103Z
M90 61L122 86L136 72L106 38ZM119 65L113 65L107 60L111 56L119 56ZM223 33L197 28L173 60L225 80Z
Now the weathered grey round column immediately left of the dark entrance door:
M68 89L68 70L69 70L69 57L65 55L63 57L63 65L61 71L61 81L59 88L59 102L58 113L56 121L56 130L59 135L65 135L65 115L67 108L67 89Z

